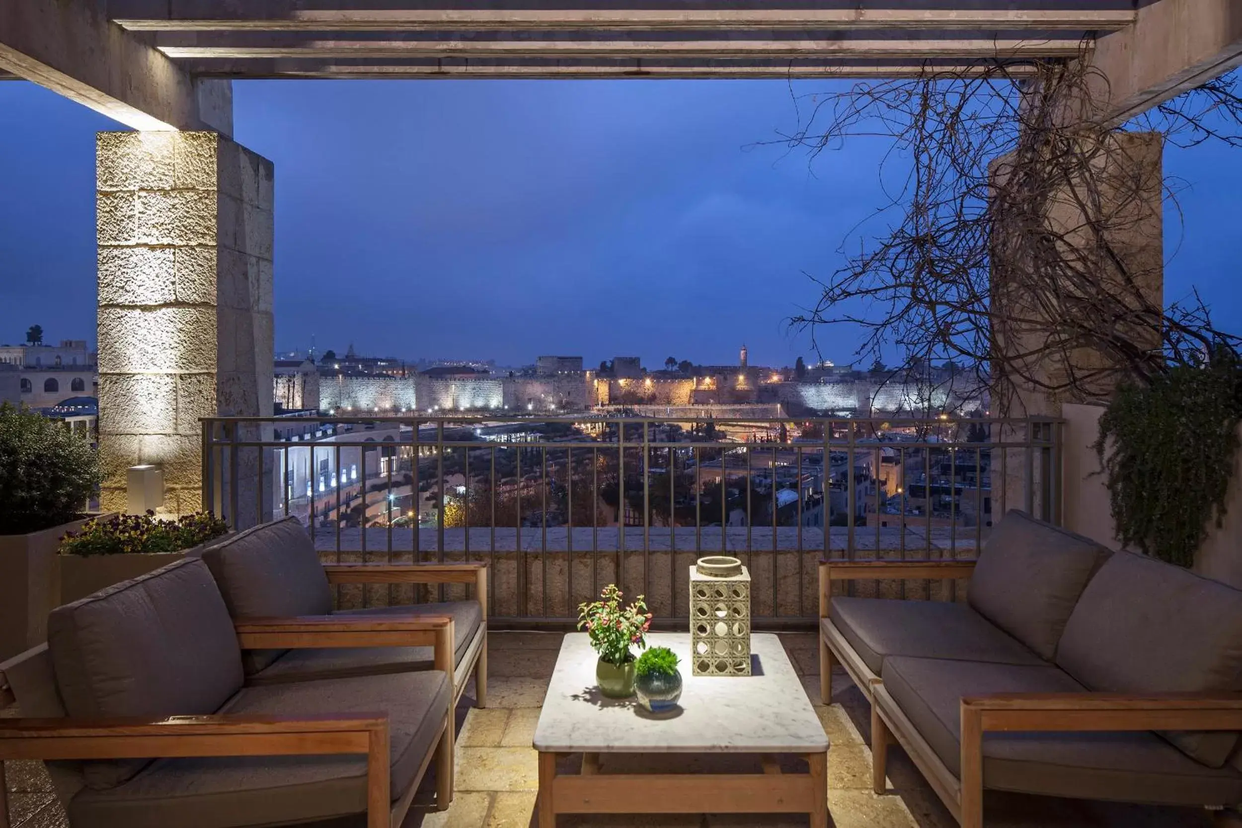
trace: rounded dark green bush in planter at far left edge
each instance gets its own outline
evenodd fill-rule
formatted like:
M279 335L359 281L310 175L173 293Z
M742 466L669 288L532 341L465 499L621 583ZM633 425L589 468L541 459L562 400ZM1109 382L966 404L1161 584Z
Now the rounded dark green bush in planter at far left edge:
M89 442L61 422L0 406L0 535L77 520L99 480Z

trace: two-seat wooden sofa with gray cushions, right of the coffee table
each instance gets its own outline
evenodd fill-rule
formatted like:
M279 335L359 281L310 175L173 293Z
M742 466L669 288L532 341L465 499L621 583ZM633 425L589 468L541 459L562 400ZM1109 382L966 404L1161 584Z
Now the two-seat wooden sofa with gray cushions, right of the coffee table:
M969 578L965 602L833 595ZM982 792L1242 803L1242 592L1010 511L976 561L823 561L825 704L872 704L873 785L900 745L964 828Z

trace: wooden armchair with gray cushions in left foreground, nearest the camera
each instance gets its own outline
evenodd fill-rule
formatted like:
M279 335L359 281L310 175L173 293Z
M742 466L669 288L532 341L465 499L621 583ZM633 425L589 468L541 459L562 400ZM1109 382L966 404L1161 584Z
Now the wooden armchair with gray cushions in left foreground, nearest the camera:
M246 685L243 649L430 647L433 668ZM0 760L42 760L75 828L400 826L436 762L453 796L453 619L233 622L186 559L48 618L48 643L0 665ZM7 828L0 765L0 828Z

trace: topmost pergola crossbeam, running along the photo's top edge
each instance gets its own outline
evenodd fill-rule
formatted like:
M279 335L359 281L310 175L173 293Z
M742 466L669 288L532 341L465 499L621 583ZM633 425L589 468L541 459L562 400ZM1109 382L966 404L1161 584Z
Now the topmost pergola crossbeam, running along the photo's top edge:
M546 1L543 9L517 2L440 2L373 0L340 9L325 0L113 0L109 14L135 31L401 31L401 30L523 30L523 29L1122 29L1134 22L1130 0L1067 0L1025 4L1000 1L893 2L821 0L776 4L739 1L667 4L667 9L626 7L631 4L566 4ZM369 5L371 7L356 7ZM431 7L438 5L441 7ZM528 7L517 7L527 5ZM335 6L335 7L334 7ZM514 6L514 7L504 7ZM605 6L605 7L592 7ZM1033 6L1033 7L1030 7Z

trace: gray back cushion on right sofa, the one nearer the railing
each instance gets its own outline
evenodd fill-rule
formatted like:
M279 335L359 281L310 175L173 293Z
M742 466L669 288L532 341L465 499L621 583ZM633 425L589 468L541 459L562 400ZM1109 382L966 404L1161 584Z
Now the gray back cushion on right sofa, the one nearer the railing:
M1051 662L1078 596L1108 555L1089 538L1011 509L979 554L966 600Z

